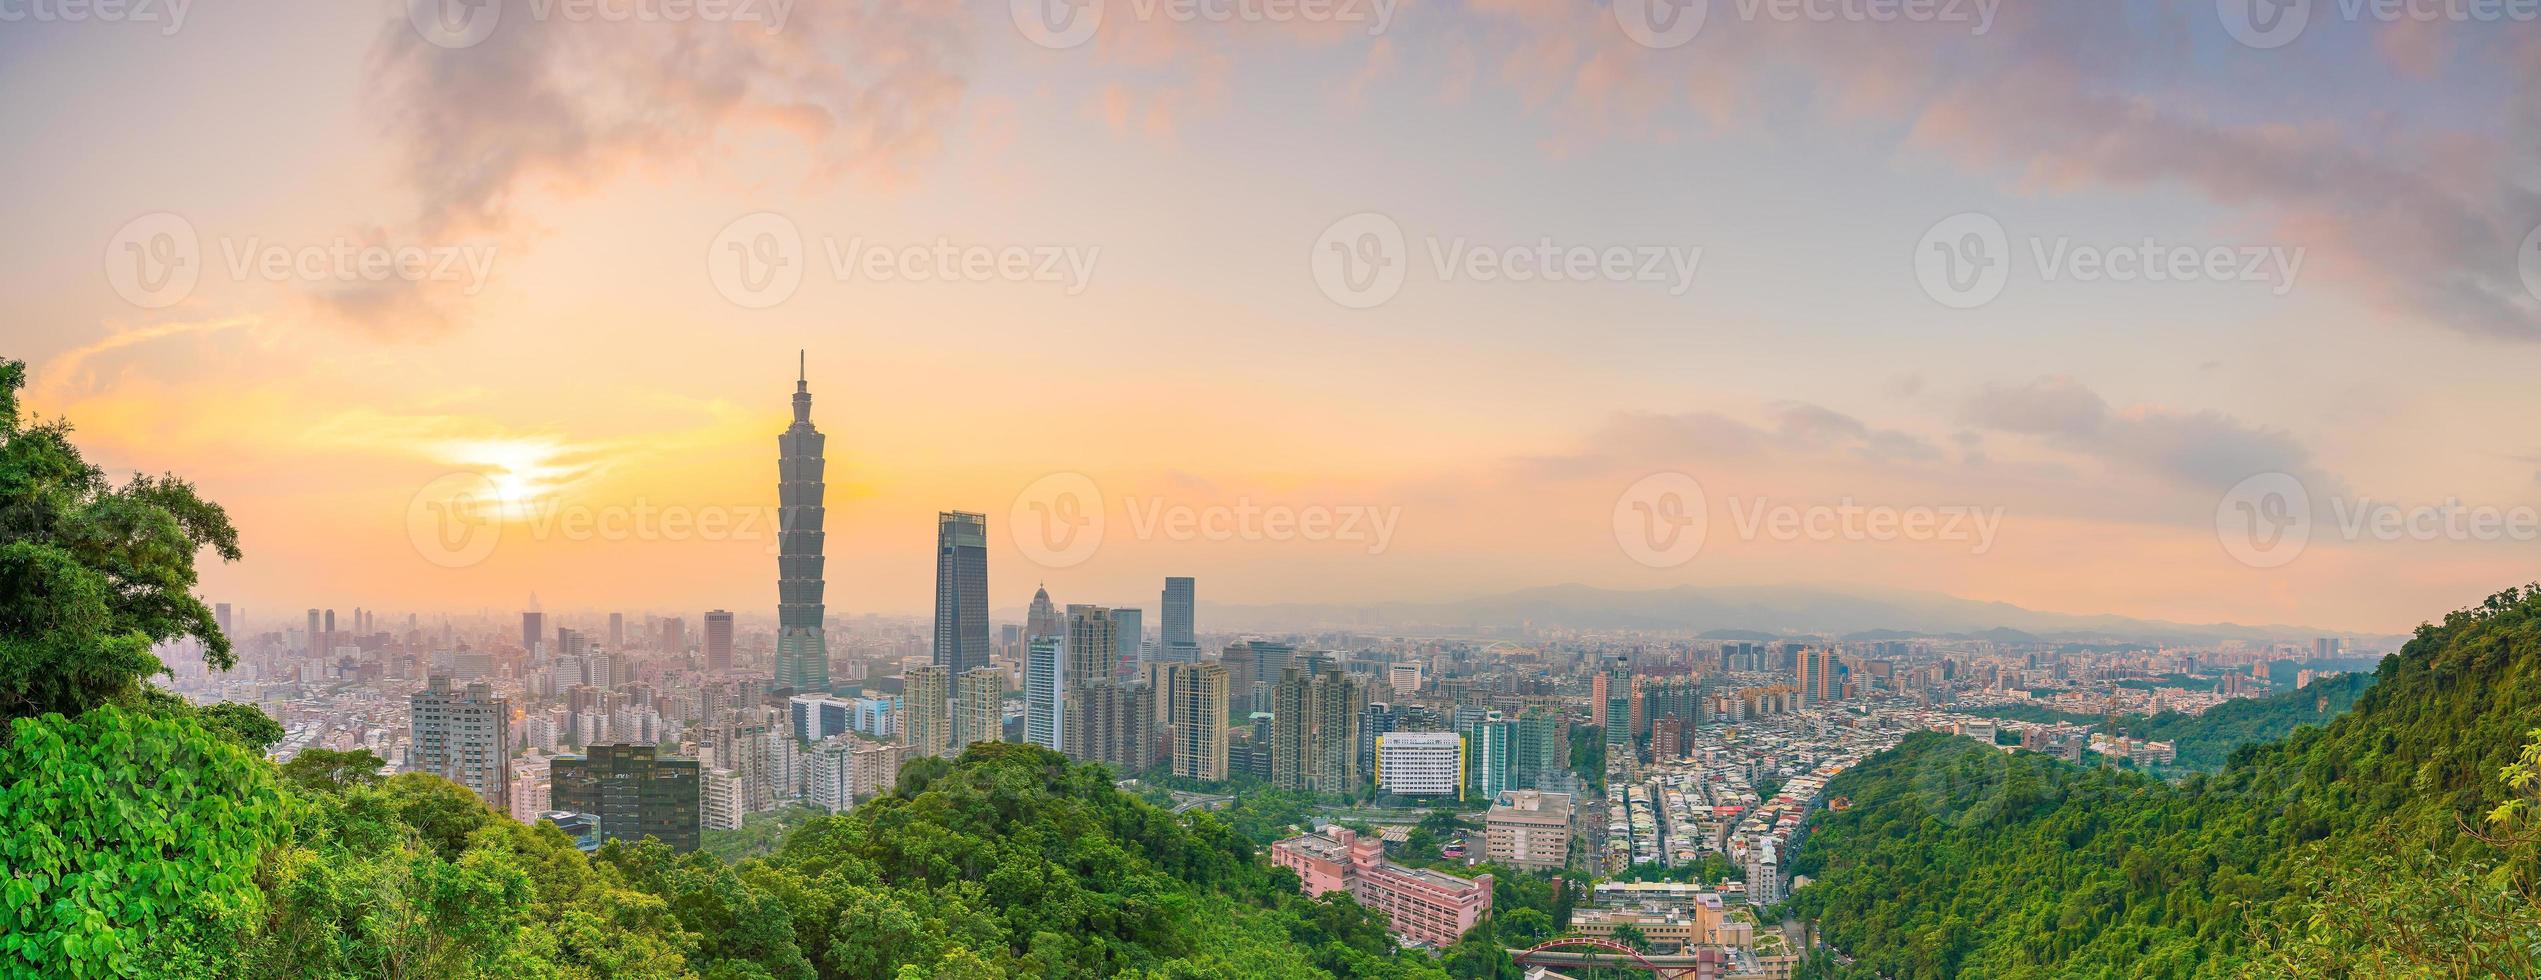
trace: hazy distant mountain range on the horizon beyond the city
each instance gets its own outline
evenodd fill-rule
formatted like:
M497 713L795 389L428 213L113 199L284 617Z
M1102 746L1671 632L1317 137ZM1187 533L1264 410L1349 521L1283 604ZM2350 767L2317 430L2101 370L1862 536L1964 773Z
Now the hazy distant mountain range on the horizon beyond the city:
M1705 640L1916 640L1974 637L1997 642L2173 642L2206 645L2310 642L2340 637L2348 647L2391 650L2404 637L2239 622L2160 622L2129 617L2079 617L2023 609L2007 602L1959 599L1936 592L1845 592L1824 586L1677 586L1598 589L1560 584L1456 602L1377 604L1210 604L1207 630L1405 630L1494 632L1522 625L1565 630L1692 632Z

